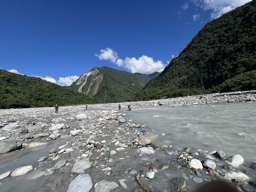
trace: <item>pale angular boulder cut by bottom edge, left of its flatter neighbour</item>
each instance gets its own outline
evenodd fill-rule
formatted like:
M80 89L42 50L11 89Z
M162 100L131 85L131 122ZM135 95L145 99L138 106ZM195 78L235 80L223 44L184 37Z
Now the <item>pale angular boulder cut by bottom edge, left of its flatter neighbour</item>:
M92 189L92 178L89 174L80 174L68 186L68 192L89 192Z

